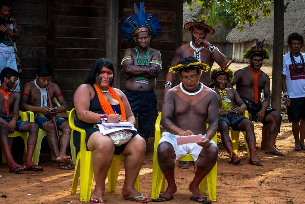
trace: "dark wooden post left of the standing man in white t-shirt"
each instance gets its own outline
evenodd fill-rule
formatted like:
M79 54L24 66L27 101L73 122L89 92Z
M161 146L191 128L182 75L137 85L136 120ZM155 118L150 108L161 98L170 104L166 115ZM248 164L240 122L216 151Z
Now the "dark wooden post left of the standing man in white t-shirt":
M284 50L284 0L274 1L273 30L273 64L271 106L281 113L282 101L282 67ZM263 125L261 149L265 149L269 141L269 125ZM275 142L274 142L275 146Z

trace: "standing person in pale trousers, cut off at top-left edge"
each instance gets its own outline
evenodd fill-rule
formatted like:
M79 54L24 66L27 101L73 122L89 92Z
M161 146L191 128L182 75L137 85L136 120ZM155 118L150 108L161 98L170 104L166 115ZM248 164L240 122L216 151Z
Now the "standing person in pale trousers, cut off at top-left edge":
M14 46L16 39L20 38L18 24L15 17L11 16L12 3L1 1L0 3L0 72L5 67L10 67L18 72ZM12 41L11 41L12 40ZM20 73L20 72L19 72ZM0 83L1 84L1 83ZM14 91L19 92L18 86Z

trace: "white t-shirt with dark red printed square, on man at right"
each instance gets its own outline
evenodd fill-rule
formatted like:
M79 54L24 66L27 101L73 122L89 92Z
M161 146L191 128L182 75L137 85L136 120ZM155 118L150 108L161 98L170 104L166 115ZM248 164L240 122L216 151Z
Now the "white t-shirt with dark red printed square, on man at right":
M303 55L305 61L305 53ZM294 57L296 65L300 69L302 67L301 56ZM292 61L290 59L290 52L285 54L283 57L283 74L286 75L286 85L289 98L300 98L305 97L305 69L302 73L294 71Z

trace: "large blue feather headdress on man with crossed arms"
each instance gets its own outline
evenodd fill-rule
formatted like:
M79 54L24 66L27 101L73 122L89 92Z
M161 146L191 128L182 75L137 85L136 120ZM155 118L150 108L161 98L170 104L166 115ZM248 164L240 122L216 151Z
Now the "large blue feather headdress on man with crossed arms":
M161 30L161 24L152 14L145 13L144 2L140 2L140 10L134 3L135 14L128 17L122 25L122 34L129 42L134 41L135 35L139 32L148 32L151 39L155 39Z

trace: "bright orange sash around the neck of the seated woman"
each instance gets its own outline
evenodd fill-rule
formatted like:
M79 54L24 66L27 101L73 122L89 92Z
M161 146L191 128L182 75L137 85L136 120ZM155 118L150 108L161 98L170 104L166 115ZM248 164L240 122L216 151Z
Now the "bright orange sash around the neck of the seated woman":
M115 114L114 110L112 109L110 103L107 101L107 99L105 98L105 96L102 94L101 90L99 89L99 87L94 84L94 88L96 90L97 96L99 97L99 104L101 105L103 111L105 112L105 114L109 115L109 114ZM113 88L111 86L108 86L108 90L109 90L109 94L116 99L119 104L120 104L120 109L121 109L121 115L122 115L122 119L124 121L126 121L126 113L125 113L125 107L124 104L122 102L122 100L120 99L120 97L117 95L117 93L113 90Z

